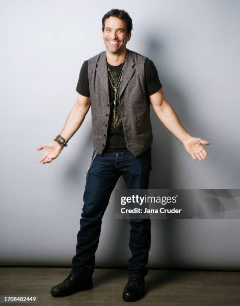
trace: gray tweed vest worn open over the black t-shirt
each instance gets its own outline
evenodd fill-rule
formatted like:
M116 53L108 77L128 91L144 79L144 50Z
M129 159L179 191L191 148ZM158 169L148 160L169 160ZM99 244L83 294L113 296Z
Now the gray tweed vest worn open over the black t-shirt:
M150 101L144 83L146 57L127 49L119 87L120 109L127 149L138 156L152 144ZM93 148L102 154L106 145L110 103L106 51L88 59Z

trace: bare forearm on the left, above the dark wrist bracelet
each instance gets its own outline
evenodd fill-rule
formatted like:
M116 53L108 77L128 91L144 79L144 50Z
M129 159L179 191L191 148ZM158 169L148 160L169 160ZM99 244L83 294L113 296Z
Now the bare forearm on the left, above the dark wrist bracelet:
M81 126L89 107L78 108L76 105L70 110L60 135L68 141Z

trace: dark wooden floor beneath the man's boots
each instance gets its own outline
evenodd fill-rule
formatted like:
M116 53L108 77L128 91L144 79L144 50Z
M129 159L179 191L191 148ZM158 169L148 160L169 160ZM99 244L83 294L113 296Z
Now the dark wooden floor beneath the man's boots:
M51 287L64 280L70 270L69 267L0 267L0 295L37 295L38 306L129 304L122 299L126 269L95 268L93 289L70 296L51 296ZM145 296L130 304L240 306L238 271L149 269L145 281Z

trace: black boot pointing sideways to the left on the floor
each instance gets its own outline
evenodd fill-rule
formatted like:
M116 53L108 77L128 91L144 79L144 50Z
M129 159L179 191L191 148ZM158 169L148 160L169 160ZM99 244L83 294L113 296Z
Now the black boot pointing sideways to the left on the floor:
M92 276L75 276L71 273L63 282L51 288L53 296L66 296L77 291L92 289Z

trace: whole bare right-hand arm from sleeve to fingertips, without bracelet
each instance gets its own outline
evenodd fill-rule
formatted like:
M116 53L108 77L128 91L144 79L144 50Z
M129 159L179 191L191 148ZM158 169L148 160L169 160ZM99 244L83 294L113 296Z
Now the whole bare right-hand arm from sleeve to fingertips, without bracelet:
M163 89L149 96L150 102L163 124L183 143L186 151L193 159L202 161L206 159L207 152L202 144L210 144L209 141L192 137L181 124L176 112L165 100Z

